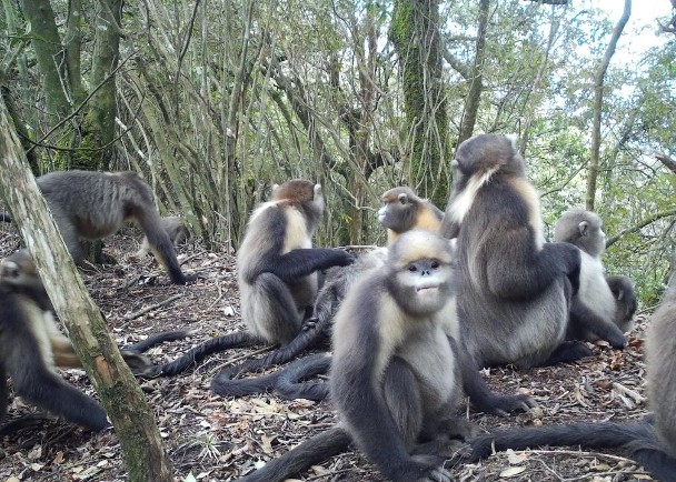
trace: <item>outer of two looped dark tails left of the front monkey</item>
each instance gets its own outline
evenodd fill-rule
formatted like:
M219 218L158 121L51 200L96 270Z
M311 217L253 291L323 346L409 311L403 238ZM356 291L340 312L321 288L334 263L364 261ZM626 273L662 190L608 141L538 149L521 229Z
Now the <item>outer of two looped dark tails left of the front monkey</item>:
M287 363L294 358L298 357L305 350L319 344L320 341L328 335L330 320L315 320L316 322L314 324L310 327L306 325L306 328L304 328L302 331L298 333L298 335L286 347L281 347L264 358L247 360L238 365L221 370L221 372L211 382L211 388L213 391L220 393L221 395L233 396L259 393L262 386L256 383L256 380L261 380L262 378L251 379L250 381L246 379L233 379L243 373L258 373L272 365ZM266 385L267 389L271 389L275 385L276 379L270 379L269 381L272 384L269 386Z

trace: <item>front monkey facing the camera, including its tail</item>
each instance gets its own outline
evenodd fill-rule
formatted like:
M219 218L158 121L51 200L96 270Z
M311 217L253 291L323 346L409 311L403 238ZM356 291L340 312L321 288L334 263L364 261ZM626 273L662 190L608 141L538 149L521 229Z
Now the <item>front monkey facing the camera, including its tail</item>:
M450 481L443 469L449 438L471 431L454 416L463 391L443 328L455 319L451 258L447 240L410 231L390 247L384 268L357 280L332 334L331 400L340 423L242 481L284 481L350 441L388 480Z

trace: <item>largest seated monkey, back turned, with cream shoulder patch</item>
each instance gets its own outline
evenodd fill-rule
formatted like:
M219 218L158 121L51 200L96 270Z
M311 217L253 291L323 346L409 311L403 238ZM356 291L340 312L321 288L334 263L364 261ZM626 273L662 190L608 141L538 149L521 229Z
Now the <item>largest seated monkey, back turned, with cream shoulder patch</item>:
M545 242L539 198L513 142L475 135L458 147L451 168L439 232L457 238L459 339L475 368L592 354L584 343L565 341L579 250Z

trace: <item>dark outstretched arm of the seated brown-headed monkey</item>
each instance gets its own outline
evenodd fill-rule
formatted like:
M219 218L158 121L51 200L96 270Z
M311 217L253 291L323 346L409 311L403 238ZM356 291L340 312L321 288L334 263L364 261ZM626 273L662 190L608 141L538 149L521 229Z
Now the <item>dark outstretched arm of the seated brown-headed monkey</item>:
M272 273L286 283L292 283L315 271L336 265L345 267L354 261L355 257L341 249L296 249L270 260L261 271Z

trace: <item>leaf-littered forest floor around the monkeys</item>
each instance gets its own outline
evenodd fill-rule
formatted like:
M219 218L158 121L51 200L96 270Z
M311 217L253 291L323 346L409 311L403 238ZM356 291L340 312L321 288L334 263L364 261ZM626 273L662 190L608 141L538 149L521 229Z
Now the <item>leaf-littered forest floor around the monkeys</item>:
M82 272L93 300L101 308L120 347L170 329L195 329L183 341L165 343L148 354L163 363L211 337L243 328L235 258L207 252L199 245L179 248L186 273L203 275L178 287L151 257L133 258L140 234L126 230L106 240L106 251L118 264ZM0 225L0 258L12 252L19 238ZM158 304L146 314L141 310ZM0 308L1 309L1 308ZM131 317L136 314L136 317ZM504 393L528 393L540 410L509 416L476 413L467 416L484 429L600 420L637 420L644 400L643 335L645 317L624 351L594 347L595 355L576 364L553 368L484 371L491 388ZM192 474L199 481L230 481L250 472L260 461L278 456L335 422L328 402L286 401L274 394L223 399L209 390L220 369L260 350L230 350L213 355L193 370L173 378L140 380L155 409L170 453L177 481ZM96 396L82 370L63 376ZM33 406L12 398L7 421L34 413ZM53 418L6 435L0 441L0 481L122 481L120 445L112 431L95 434ZM650 480L640 468L612 451L576 448L501 453L477 464L453 468L458 481L634 481ZM301 481L381 481L375 468L351 450L299 474Z

